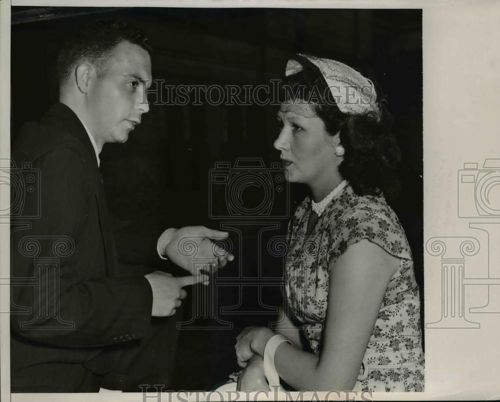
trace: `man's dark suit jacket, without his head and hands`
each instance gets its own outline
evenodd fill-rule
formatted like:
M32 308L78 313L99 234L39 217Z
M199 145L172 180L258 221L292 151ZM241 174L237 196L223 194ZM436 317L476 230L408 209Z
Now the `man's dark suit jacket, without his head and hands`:
M151 287L118 264L95 152L69 107L24 125L12 158L23 195L11 191L21 199L11 224L12 389L97 390L85 370L106 373L109 349L146 336ZM73 369L82 378L61 385Z

